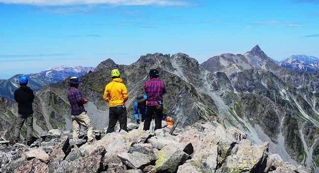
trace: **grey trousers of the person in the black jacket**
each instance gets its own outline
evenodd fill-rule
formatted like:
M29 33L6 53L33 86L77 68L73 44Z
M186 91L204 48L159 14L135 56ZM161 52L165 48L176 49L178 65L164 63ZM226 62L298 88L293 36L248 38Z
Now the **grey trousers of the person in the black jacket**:
M20 115L18 114L17 120L16 120L16 128L14 129L13 139L20 139L20 130L23 126L23 123L26 120L26 126L27 126L27 141L31 140L32 133L33 133L33 114L31 115Z

